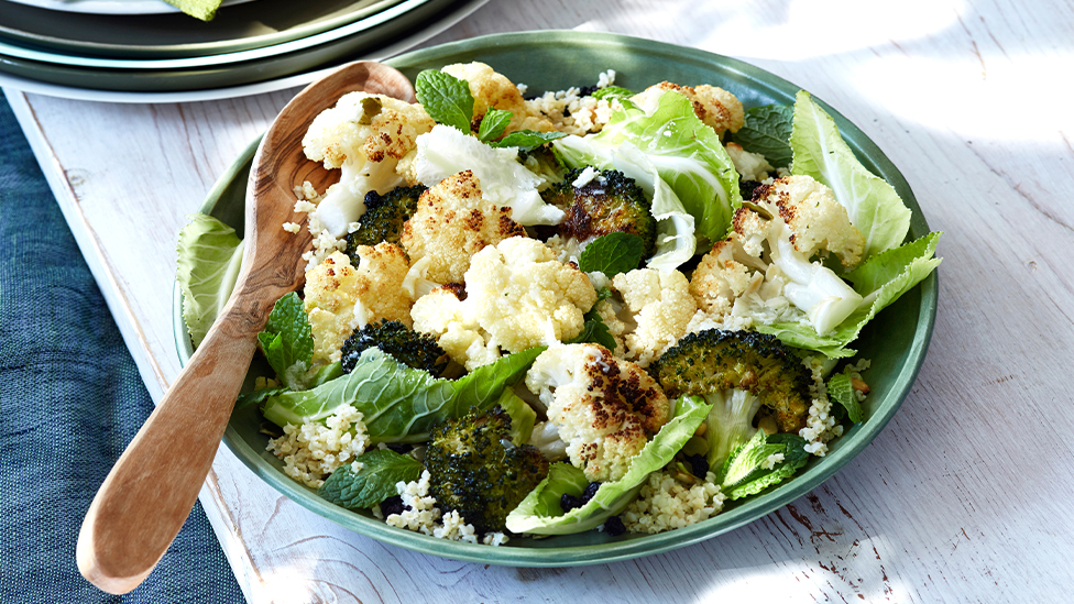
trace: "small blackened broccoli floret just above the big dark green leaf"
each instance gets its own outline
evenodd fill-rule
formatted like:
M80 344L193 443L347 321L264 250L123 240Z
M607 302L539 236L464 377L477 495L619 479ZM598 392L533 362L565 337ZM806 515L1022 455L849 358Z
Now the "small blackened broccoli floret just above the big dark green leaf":
M436 338L409 329L399 321L382 320L355 329L341 349L343 373L354 370L358 358L368 348L379 348L396 361L439 377L448 366L448 354Z

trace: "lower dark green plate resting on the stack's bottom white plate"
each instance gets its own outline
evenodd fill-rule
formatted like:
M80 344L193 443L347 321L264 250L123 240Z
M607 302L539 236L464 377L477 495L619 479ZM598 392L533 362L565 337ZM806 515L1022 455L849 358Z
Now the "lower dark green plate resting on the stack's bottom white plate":
M267 56L250 61L212 64L215 62L213 57L207 57L202 62L207 63L207 65L199 67L102 68L11 56L3 53L3 44L0 43L0 74L72 88L128 92L202 90L208 88L242 86L283 78L324 66L341 57L353 57L362 52L388 45L419 30L423 24L435 23L438 19L449 15L456 7L467 4L465 0L409 1L415 2L412 10L406 11L395 19L387 19L368 29L360 29L351 35L293 52L281 54L268 53ZM252 2L252 4L255 3ZM399 4L399 7L404 6ZM28 56L47 54L29 53ZM262 51L250 51L249 54L251 56L260 56ZM96 59L96 63L107 65L116 63L131 64L134 62ZM155 61L153 63L165 65L188 62L187 59L168 59Z

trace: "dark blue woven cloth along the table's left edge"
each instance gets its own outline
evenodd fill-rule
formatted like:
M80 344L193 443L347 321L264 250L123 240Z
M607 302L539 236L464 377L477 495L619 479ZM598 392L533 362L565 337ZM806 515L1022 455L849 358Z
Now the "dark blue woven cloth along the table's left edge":
M131 593L78 574L83 516L152 409L0 95L0 602L243 602L200 504Z

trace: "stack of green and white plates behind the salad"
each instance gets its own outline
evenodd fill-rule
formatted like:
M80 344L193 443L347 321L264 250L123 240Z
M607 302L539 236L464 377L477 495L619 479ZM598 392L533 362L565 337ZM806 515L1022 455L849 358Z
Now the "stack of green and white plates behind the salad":
M402 52L485 1L227 0L202 22L163 0L0 0L0 85L113 101L265 92Z

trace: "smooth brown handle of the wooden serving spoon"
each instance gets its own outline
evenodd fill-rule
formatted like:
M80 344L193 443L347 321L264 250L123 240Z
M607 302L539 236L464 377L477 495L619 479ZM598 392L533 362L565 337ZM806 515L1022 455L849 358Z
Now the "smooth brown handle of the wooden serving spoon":
M263 327L250 316L232 298L97 492L76 558L106 592L136 587L194 507Z

